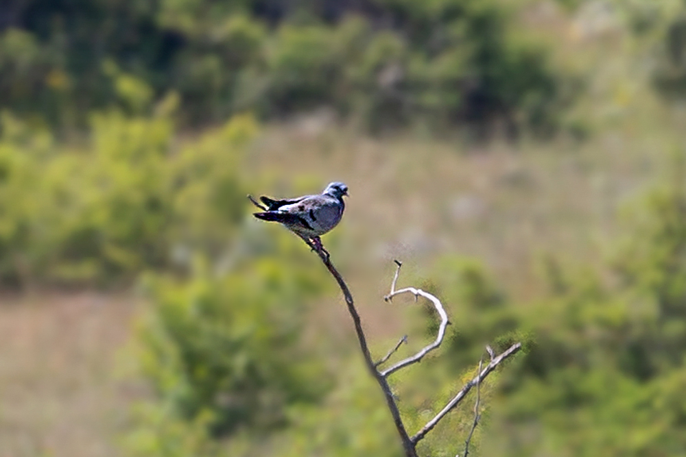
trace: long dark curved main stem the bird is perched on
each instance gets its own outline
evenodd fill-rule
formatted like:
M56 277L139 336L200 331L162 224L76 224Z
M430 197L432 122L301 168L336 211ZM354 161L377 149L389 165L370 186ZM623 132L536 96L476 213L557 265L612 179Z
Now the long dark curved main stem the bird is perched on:
M395 402L395 397L390 389L390 386L388 385L388 380L386 380L385 376L379 373L379 371L375 367L374 360L372 360L372 356L369 352L369 347L367 346L366 336L364 336L364 330L362 330L362 321L359 319L357 309L355 309L353 295L350 293L348 286L341 277L340 273L338 273L338 270L336 270L335 267L333 267L333 264L331 264L331 260L329 259L329 256L327 255L326 251L324 251L323 249L316 249L314 244L305 238L303 238L303 240L305 240L305 243L307 243L309 247L315 250L319 258L322 260L322 263L324 263L324 267L327 267L327 270L329 270L329 273L331 273L333 279L335 279L336 282L338 282L338 286L340 287L345 298L346 305L348 306L348 312L353 318L353 323L355 324L355 334L357 334L357 341L359 341L359 348L362 350L364 362L370 374L377 381L379 387L381 387L381 391L383 391L383 396L386 398L386 405L390 410L391 416L393 417L393 422L395 424L395 428L398 430L398 434L400 435L400 439L403 443L405 457L418 457L415 449L416 446L410 439L410 436L407 434L407 430L405 430L405 425L403 424L403 420L400 417L400 411L398 409L398 405Z

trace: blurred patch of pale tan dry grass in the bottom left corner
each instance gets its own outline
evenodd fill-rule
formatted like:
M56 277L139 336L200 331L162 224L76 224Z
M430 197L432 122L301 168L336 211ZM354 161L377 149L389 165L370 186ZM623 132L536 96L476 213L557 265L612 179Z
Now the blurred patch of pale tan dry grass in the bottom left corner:
M136 386L117 380L128 296L0 297L0 456L117 456Z

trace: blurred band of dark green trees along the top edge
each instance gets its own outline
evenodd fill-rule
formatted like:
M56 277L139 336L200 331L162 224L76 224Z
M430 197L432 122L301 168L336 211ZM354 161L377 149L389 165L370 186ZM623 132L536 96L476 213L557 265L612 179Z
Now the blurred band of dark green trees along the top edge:
M16 0L0 6L0 106L78 127L180 96L182 121L331 106L372 129L555 127L571 92L508 1Z

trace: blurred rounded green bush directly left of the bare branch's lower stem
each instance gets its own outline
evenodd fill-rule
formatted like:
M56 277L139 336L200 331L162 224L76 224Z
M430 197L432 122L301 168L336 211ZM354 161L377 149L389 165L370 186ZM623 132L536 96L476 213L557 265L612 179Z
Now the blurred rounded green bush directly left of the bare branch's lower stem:
M321 275L274 260L220 278L196 269L187 283L148 281L156 305L141 328L141 361L165 405L191 421L204 417L222 436L283 425L285 405L321 397L326 373L304 345L297 349Z

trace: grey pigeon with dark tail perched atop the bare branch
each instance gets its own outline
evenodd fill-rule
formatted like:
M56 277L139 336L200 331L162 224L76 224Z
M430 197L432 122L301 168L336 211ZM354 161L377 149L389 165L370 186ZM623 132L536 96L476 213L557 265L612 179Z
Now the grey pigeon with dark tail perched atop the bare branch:
M348 196L348 186L342 182L331 182L320 195L304 195L292 199L260 197L265 204L263 212L253 216L263 221L274 221L285 225L301 238L310 240L316 249L323 250L320 236L333 230L343 217Z

